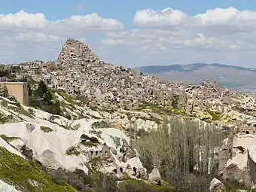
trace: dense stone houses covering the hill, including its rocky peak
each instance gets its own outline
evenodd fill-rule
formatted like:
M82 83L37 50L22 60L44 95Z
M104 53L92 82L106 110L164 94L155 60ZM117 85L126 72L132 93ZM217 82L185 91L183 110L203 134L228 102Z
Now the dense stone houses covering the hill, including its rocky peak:
M197 85L166 83L126 67L113 66L99 59L86 44L74 39L66 41L56 61L26 62L19 66L17 78L43 80L48 87L80 96L101 107L133 108L141 102L152 102L170 108L177 99L179 109L195 114L217 103L232 105L232 97L236 94L221 90L213 81ZM241 105L253 110L251 103L253 101L248 100Z

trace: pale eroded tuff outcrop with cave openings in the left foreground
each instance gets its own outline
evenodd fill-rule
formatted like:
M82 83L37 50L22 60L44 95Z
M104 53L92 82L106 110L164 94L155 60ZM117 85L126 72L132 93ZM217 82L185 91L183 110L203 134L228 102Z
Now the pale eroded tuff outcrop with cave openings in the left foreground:
M14 113L13 108L5 106L1 105L0 110ZM90 170L111 175L114 172L119 179L125 174L148 180L147 170L138 151L130 147L125 131L111 126L93 128L93 123L103 118L99 112L90 111L94 119L69 120L22 107L33 111L32 114L20 115L17 122L1 124L0 146L38 163L54 181L67 182L78 191L86 191L86 184L92 182L88 177Z

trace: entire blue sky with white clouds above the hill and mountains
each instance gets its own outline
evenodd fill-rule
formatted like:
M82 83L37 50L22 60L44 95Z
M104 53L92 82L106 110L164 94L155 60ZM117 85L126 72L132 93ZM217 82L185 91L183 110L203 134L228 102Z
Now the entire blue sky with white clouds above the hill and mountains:
M0 63L55 60L68 38L116 66L256 68L253 0L2 0Z

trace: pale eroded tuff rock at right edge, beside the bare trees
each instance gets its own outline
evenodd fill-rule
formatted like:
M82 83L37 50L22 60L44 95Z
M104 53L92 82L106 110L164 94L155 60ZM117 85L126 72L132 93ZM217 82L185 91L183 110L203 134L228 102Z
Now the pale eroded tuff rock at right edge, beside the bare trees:
M243 130L224 139L218 154L218 175L224 180L235 180L250 187L256 184L256 136Z

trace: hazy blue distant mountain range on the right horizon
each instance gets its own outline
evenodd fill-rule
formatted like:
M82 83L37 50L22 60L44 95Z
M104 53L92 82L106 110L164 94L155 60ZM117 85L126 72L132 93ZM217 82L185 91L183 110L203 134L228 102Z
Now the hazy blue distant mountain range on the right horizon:
M140 72L154 75L164 81L182 81L197 84L203 79L217 81L221 87L229 87L246 93L256 93L256 69L224 64L192 63L171 66L143 66Z

